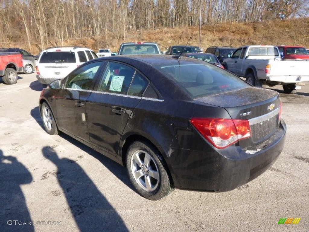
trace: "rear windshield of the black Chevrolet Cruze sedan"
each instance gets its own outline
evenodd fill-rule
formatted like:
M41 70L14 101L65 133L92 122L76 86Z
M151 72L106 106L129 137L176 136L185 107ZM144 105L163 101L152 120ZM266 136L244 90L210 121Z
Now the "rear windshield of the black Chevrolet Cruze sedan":
M193 99L250 86L239 77L207 62L169 66L163 64L158 68Z

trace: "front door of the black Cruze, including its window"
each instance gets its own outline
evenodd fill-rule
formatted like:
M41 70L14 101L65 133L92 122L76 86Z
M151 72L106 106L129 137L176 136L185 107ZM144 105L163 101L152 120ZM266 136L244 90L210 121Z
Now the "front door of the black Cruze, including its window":
M104 63L104 61L91 62L72 71L64 79L63 88L55 97L58 127L86 141L89 141L86 100Z

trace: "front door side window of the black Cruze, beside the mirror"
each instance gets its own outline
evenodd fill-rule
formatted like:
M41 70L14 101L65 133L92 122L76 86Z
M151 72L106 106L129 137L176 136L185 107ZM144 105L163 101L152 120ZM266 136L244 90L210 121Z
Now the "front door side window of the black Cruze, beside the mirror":
M65 88L77 90L92 90L95 84L95 74L102 62L93 62L74 70L68 76Z

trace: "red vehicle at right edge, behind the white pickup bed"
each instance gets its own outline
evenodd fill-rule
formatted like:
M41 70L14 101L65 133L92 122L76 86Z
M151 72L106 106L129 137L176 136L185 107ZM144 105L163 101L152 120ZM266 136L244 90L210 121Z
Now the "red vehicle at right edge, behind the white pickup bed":
M301 46L286 46L281 45L277 46L280 52L280 56L282 59L285 60L296 60L296 59L302 59L302 60L309 60L309 52L306 50L306 48Z

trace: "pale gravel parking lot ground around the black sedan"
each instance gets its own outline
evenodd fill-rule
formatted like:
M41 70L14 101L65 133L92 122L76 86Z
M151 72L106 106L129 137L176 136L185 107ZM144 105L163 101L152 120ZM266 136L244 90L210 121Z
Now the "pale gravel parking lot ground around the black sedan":
M175 190L150 201L121 165L44 131L35 73L14 85L0 78L0 231L308 231L309 83L297 94L272 89L288 131L269 170L233 191ZM278 224L289 217L301 219Z

